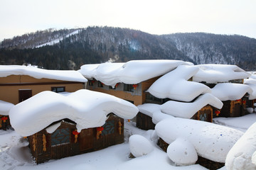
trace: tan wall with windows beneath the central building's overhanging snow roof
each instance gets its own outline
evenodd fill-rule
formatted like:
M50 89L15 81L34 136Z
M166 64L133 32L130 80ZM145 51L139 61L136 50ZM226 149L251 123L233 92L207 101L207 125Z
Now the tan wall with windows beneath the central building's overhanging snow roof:
M118 83L114 88L112 86L107 86L102 84L102 82L95 79L88 80L86 89L91 91L99 91L105 94L111 94L118 98L122 98L126 101L130 101L135 106L141 105L146 101L146 90L159 79L159 77L154 77L146 81L142 81L139 84L124 84Z

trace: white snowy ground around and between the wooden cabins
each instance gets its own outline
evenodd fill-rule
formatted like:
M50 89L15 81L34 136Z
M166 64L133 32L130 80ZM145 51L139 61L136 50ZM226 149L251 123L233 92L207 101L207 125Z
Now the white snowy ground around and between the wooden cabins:
M214 122L227 125L245 132L247 128L255 123L256 114L245 115L241 118L215 118ZM0 130L0 169L171 169L171 170L199 170L205 169L198 164L193 166L175 166L166 152L156 145L154 130L139 130L135 123L125 124L125 141L121 145L115 145L97 152L77 155L59 160L50 160L36 165L29 153L28 142L13 130ZM128 138L130 135L139 134L146 137L154 146L150 154L135 159L129 158ZM225 170L225 167L221 170Z

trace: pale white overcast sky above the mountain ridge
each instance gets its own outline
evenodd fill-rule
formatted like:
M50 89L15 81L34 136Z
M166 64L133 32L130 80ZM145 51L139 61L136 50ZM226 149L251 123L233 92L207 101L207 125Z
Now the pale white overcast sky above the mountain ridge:
M87 26L256 38L256 0L0 0L0 41L36 30Z

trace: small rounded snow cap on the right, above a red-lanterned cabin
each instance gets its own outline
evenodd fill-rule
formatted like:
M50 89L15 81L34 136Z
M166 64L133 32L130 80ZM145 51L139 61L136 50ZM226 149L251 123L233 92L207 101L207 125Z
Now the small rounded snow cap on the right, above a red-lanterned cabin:
M212 94L220 101L235 101L241 99L245 94L252 94L252 89L246 84L221 83L216 84Z

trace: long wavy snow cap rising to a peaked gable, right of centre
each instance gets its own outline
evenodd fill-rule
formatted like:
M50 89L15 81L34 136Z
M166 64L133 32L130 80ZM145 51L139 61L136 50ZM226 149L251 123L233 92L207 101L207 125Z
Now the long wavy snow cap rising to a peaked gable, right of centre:
M223 103L212 94L203 94L192 103L167 101L162 105L146 103L138 106L138 108L141 113L149 115L154 123L158 123L162 118L168 117L163 116L163 114L178 118L192 118L196 112L208 104L219 109L223 107Z

